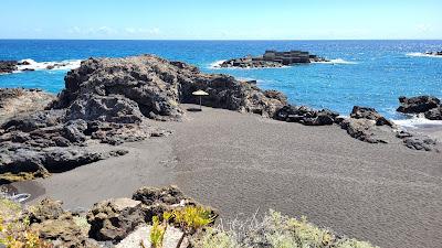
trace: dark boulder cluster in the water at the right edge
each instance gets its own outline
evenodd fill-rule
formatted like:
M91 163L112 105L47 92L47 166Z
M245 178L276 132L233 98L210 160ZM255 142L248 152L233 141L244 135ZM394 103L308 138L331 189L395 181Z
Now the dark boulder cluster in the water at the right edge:
M399 112L404 114L420 114L425 112L432 108L439 107L441 101L433 96L418 96L407 98L404 96L399 97L400 107L397 109Z

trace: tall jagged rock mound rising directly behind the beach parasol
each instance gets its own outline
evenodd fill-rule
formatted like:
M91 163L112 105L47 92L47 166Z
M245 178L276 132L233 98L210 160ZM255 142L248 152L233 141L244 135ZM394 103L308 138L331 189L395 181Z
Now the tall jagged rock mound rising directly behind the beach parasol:
M72 105L93 107L84 101L96 103L95 105L118 103L120 108L136 119L140 119L140 116L156 119L180 118L183 111L179 104L196 103L197 99L191 94L197 89L209 93L202 104L215 108L273 116L278 107L286 104L281 94L263 91L231 76L203 74L194 66L152 55L90 58L80 68L70 72L65 82L66 88L53 104L53 108L67 108ZM78 108L74 110L80 115L114 115L103 111L105 109L109 108L101 111ZM83 115L82 118L95 119L96 116Z

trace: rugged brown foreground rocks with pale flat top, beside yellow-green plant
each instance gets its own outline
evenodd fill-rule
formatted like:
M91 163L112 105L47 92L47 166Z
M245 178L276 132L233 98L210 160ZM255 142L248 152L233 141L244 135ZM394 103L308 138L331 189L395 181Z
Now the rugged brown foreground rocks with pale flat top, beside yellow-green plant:
M154 216L162 216L187 205L200 205L186 196L177 186L141 187L133 198L106 200L94 204L87 213L91 224L88 236L98 241L118 242L140 224L151 223ZM211 215L217 213L211 208Z

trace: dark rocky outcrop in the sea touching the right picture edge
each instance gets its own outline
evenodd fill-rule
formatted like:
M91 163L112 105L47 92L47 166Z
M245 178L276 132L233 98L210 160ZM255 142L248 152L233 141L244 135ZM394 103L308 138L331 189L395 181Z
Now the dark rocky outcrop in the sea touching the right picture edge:
M433 96L399 97L401 106L397 109L403 114L423 115L430 120L442 120L441 100Z

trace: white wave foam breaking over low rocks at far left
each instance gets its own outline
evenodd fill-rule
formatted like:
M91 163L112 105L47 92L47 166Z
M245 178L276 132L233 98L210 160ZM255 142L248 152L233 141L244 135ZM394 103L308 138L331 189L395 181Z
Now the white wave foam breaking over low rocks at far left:
M70 71L78 68L81 60L69 60L60 62L35 62L34 60L27 58L19 61L19 63L25 63L24 65L19 65L18 71L43 71L43 69L56 69L56 71Z

